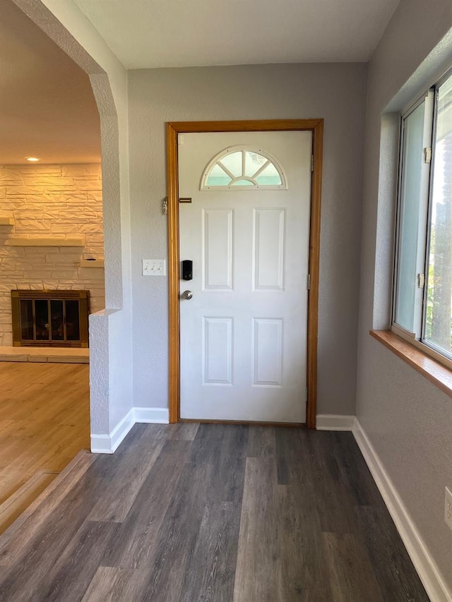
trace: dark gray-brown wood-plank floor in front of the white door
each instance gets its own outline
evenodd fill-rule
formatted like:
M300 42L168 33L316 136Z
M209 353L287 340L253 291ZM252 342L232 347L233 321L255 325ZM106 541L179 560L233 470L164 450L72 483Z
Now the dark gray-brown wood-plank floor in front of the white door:
M57 480L2 601L428 601L351 433L142 424Z

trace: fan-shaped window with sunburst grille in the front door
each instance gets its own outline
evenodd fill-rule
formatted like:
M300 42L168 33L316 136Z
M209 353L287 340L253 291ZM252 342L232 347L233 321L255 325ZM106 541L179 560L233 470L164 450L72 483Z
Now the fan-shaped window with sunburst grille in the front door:
M201 179L201 190L287 188L278 162L260 148L234 146L214 157Z

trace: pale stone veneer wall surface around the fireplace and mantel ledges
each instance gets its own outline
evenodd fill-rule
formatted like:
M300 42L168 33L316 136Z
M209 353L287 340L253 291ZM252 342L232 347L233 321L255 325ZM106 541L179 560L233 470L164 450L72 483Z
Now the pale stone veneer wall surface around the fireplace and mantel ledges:
M90 311L105 307L100 164L0 166L0 345L12 345L11 290L87 289ZM6 246L13 237L85 236L85 246Z

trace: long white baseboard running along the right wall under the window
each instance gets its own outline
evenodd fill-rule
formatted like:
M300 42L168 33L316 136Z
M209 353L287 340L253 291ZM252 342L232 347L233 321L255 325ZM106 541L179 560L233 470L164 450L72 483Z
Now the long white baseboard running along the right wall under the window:
M449 591L448 586L444 582L441 572L439 572L436 563L429 554L420 534L417 532L416 526L403 505L396 488L393 486L391 478L389 478L378 454L376 454L373 445L357 419L355 419L352 432L374 477L376 486L379 488L381 497L391 514L394 524L396 524L398 533L410 555L412 563L415 565L425 591L427 591L427 595L434 602L451 602L452 592Z

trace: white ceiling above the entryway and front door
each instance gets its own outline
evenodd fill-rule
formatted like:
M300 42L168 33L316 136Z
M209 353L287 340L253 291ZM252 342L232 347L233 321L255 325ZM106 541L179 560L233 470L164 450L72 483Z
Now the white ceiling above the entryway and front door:
M73 0L127 68L367 62L399 0Z

